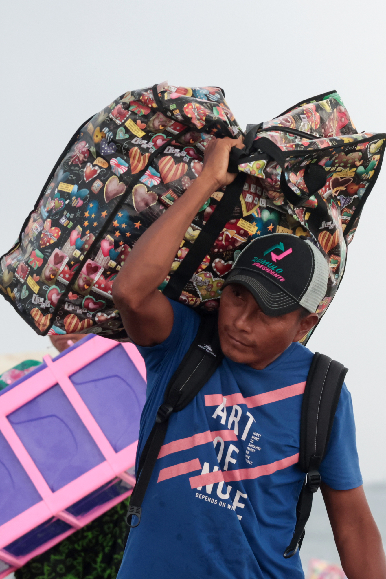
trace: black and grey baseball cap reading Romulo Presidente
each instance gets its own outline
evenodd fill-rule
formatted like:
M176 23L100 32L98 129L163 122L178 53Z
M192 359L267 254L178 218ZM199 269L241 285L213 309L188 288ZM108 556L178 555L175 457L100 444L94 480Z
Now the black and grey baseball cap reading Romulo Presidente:
M316 312L325 297L329 267L311 241L289 233L253 240L238 256L223 288L244 285L267 316L282 316L303 306Z

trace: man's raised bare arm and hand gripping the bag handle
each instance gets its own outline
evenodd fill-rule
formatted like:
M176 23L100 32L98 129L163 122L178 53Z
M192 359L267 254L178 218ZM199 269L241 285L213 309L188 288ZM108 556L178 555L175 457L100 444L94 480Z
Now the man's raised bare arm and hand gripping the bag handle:
M114 303L128 336L140 346L159 344L171 332L173 310L157 288L170 272L183 236L200 207L236 177L227 173L232 146L242 148L241 138L209 142L200 176L142 234L114 281Z

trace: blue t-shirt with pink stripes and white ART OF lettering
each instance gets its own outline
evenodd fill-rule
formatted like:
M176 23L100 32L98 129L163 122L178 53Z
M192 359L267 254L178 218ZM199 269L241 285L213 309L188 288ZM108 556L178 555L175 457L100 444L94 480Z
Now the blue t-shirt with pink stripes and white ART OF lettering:
M148 398L137 461L200 324L197 313L171 304L170 336L139 347ZM304 578L299 552L291 559L283 553L304 480L297 466L300 411L312 358L299 343L263 370L224 358L194 400L171 415L117 579ZM320 472L334 489L362 484L345 386Z

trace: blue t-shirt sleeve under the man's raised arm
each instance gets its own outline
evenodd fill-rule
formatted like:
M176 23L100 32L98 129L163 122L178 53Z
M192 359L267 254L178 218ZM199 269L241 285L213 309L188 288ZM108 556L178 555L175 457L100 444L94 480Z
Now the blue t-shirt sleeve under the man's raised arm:
M146 395L149 395L159 378L162 378L163 383L171 378L200 326L200 316L190 307L171 299L169 301L173 308L174 321L168 338L157 346L137 346L146 365Z

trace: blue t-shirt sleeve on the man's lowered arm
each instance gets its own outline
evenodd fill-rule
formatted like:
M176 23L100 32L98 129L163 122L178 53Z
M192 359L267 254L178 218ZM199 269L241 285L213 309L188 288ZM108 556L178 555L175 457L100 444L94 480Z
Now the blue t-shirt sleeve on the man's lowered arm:
M322 481L336 490L362 485L356 451L355 421L351 394L343 384L327 452L319 468Z

